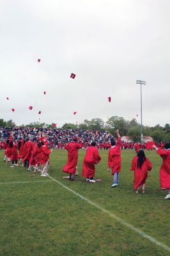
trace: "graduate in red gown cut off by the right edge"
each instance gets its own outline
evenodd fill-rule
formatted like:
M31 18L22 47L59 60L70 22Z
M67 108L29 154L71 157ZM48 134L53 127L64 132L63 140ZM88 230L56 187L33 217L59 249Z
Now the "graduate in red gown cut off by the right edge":
M161 189L167 189L167 195L165 199L170 199L170 142L165 143L164 149L157 148L153 145L153 148L157 150L157 154L162 157L162 165L160 166L160 186Z

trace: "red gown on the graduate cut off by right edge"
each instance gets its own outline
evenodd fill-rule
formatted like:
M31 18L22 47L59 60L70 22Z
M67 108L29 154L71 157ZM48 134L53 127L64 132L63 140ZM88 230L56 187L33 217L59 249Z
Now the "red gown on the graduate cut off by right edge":
M160 166L160 186L170 189L170 149L158 148L157 153L162 157L163 163Z

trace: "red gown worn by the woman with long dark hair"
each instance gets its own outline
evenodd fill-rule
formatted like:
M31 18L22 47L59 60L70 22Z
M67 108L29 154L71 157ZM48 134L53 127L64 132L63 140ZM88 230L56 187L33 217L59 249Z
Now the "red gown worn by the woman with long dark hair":
M134 189L137 189L139 186L142 186L145 184L145 180L148 177L148 171L151 170L152 164L150 160L146 157L146 161L144 161L141 168L137 168L137 159L138 156L135 156L132 160L132 166L130 168L130 171L134 172Z

